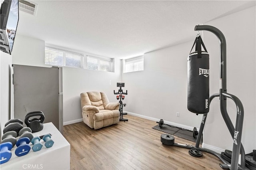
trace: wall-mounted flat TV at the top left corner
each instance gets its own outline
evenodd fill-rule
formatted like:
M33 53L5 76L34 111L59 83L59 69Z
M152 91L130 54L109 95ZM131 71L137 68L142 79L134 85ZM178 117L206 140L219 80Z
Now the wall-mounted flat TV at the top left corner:
M18 0L4 0L0 17L0 49L11 54L19 21Z

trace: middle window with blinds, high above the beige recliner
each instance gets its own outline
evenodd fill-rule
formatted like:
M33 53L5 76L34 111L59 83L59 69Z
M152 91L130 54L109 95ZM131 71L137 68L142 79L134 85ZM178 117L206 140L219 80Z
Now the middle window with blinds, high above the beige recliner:
M114 58L87 55L87 69L114 72Z

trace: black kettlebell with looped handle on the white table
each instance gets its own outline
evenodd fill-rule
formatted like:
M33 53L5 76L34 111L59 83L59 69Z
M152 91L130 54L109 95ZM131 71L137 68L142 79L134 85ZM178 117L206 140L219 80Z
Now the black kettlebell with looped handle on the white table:
M30 119L30 117L34 116L40 116L40 118L33 118ZM26 115L24 123L27 125L27 127L30 127L32 130L32 133L38 132L44 128L44 113L42 111L34 111L30 112Z

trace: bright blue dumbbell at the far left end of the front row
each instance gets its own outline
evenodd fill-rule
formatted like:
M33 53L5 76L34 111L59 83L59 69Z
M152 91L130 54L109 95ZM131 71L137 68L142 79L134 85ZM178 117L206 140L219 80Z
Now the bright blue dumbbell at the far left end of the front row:
M12 149L12 142L4 142L0 144L0 164L3 164L5 162L8 162L10 158L12 157L12 152L10 151Z

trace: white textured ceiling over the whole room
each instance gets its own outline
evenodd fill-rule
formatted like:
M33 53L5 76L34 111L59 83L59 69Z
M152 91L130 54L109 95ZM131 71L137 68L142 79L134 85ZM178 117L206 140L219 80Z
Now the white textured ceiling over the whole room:
M20 12L17 34L106 57L136 57L194 39L194 26L255 1L40 0ZM228 23L223 23L228 24Z

